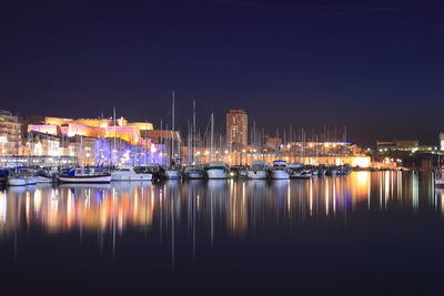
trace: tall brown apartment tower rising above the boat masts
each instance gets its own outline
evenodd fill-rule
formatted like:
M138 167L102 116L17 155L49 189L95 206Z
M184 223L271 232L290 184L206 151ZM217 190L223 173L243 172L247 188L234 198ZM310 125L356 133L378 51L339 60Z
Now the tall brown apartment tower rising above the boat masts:
M230 110L226 113L226 143L230 147L246 146L249 115L243 110Z

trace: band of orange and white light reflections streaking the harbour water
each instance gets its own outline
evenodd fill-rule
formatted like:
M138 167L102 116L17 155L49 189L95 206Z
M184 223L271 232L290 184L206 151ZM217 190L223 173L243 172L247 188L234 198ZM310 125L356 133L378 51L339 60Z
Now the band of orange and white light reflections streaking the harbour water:
M172 244L178 232L185 232L195 244L198 229L214 243L224 233L242 237L271 226L341 221L350 212L402 210L444 215L443 195L427 172L10 187L0 192L0 239L24 229L111 233L115 239L128 228L142 227L171 238Z

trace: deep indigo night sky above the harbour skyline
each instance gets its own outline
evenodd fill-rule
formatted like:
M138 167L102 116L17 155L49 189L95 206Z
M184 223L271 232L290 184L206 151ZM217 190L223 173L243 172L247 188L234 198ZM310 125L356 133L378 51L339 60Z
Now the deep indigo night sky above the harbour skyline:
M193 98L202 129L244 109L272 134L346 125L361 144L444 131L444 4L92 2L1 1L0 109L97 118L115 105L159 124L175 90L182 131Z

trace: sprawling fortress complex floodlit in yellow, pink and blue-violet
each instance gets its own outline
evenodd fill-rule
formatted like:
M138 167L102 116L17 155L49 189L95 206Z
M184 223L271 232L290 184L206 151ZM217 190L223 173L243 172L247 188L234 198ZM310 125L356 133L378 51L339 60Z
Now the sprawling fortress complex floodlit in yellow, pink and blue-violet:
M152 123L125 119L30 119L23 155L73 157L80 165L164 164L163 145L149 137ZM143 134L142 134L143 133ZM178 135L178 139L179 135Z

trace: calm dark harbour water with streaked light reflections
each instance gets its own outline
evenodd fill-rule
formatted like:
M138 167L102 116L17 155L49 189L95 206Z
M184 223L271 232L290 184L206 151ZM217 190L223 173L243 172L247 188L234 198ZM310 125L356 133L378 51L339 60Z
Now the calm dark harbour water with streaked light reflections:
M2 190L0 294L442 294L443 197L428 172Z

